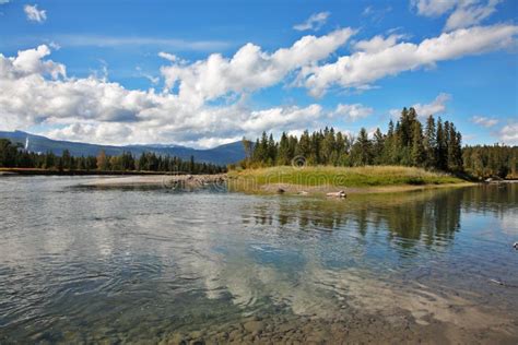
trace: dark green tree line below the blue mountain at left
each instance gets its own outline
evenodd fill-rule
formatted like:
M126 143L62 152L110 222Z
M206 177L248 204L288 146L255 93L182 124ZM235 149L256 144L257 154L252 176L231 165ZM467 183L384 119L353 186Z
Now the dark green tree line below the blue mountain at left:
M153 171L153 172L187 172L187 174L220 174L226 167L211 163L181 159L176 156L162 156L153 152L143 152L134 156L129 152L109 156L101 151L97 156L72 156L68 150L61 155L52 152L39 154L23 150L7 139L0 139L0 167L37 168L58 171Z

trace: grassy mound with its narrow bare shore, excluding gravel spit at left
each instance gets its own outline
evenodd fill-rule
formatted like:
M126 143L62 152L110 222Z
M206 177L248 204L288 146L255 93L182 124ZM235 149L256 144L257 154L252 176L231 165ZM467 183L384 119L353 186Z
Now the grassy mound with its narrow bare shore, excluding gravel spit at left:
M325 194L340 190L348 194L384 193L472 185L449 174L399 166L282 166L228 172L231 189L258 193Z

